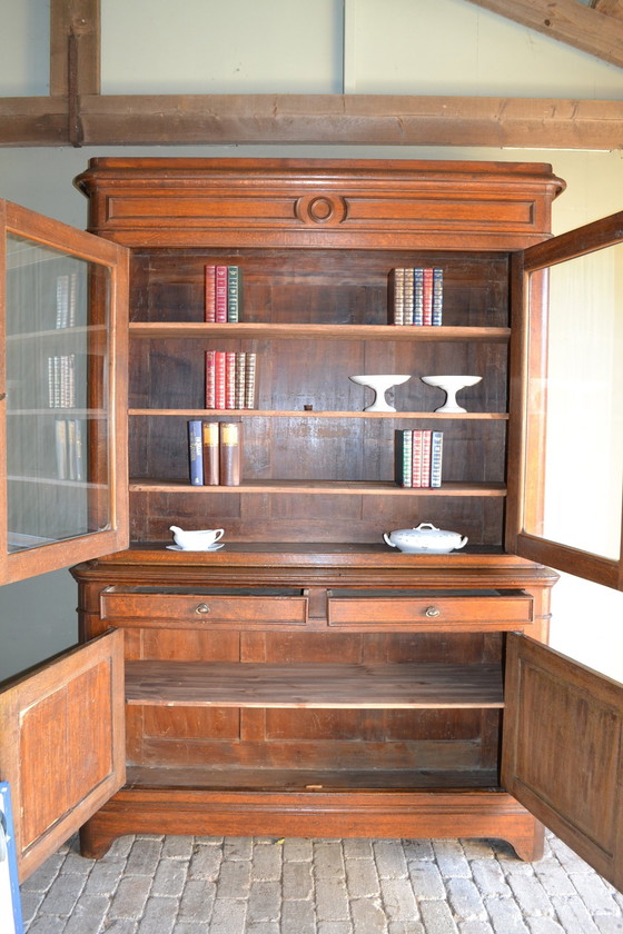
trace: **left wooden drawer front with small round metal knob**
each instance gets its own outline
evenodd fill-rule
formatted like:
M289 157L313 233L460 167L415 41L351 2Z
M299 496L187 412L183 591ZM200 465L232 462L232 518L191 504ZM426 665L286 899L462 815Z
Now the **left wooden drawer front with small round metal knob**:
M101 618L117 626L305 626L307 597L115 594L100 598Z

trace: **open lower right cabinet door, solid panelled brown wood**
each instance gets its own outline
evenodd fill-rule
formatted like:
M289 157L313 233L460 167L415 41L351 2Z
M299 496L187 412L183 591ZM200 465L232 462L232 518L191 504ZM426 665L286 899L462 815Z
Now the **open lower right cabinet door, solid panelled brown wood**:
M623 685L510 634L502 785L623 891Z

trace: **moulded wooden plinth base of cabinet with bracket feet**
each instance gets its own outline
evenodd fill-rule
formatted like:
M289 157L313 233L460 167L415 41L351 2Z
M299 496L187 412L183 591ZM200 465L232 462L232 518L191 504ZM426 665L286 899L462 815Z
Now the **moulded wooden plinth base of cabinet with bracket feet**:
M125 788L81 829L99 858L123 834L275 837L495 837L527 862L543 855L543 827L502 792L251 793Z

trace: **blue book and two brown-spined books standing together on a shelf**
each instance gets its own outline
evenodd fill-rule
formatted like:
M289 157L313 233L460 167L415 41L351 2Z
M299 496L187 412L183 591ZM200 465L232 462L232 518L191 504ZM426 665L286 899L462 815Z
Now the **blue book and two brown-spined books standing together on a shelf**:
M239 421L188 423L191 486L239 486L243 426Z

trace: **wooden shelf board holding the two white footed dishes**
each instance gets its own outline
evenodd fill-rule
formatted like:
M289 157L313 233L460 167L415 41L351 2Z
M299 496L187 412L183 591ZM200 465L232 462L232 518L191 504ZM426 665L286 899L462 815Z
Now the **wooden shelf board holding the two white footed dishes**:
M305 409L144 409L130 408L128 415L138 416L174 416L184 418L417 418L433 420L472 420L472 421L507 421L506 411L306 411Z

